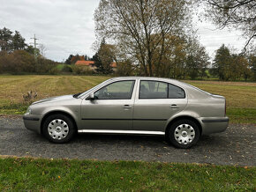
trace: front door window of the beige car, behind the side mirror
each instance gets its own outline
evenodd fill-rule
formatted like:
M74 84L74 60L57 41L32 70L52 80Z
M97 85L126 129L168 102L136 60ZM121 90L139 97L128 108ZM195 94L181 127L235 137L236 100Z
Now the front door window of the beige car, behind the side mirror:
M94 97L97 100L130 100L133 86L134 81L118 81L94 92Z

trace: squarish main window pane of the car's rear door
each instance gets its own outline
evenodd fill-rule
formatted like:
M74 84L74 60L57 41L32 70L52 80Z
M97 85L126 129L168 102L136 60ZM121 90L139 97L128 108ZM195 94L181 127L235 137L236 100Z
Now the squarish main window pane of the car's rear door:
M139 99L167 99L168 85L160 81L140 81Z

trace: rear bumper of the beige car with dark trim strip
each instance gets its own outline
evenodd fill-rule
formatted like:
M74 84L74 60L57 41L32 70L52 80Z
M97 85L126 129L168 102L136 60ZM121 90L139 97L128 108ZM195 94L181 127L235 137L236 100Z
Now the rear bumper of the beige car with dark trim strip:
M220 133L225 131L229 126L229 117L202 117L200 122L202 124L202 135L212 133Z

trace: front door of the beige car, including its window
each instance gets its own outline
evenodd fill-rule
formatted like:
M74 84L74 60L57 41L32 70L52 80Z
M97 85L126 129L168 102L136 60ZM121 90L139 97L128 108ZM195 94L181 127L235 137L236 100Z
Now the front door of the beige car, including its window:
M83 129L132 129L135 80L112 82L94 92L95 100L83 100Z

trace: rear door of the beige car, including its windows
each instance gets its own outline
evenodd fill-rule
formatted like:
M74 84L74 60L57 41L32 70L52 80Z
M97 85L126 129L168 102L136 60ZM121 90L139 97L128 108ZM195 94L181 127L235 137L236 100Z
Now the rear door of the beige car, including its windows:
M134 101L133 129L164 131L171 115L183 110L187 98L182 88L162 81L140 80Z

